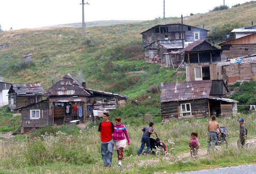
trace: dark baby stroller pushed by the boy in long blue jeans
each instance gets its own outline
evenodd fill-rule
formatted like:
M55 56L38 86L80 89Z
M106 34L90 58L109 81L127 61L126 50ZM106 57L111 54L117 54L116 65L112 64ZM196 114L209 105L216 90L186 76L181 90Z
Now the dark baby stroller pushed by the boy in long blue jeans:
M149 141L150 141L150 150L149 150L149 153L150 154L154 154L154 155L157 155L159 156L160 153L162 155L167 155L167 145L163 142L163 141L160 141L160 139L158 138L157 136L157 133L155 134L155 136L157 138L149 138ZM153 149L156 149L157 152L155 152Z

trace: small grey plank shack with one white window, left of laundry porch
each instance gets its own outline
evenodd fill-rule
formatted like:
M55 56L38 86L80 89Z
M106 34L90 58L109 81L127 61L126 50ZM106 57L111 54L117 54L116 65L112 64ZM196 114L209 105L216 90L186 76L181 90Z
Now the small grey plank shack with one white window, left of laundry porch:
M47 100L21 107L21 134L49 125Z

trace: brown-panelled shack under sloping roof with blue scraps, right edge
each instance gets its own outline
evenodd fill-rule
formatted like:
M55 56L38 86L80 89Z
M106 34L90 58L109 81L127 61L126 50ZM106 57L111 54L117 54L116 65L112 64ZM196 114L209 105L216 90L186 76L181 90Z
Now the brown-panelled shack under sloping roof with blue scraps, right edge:
M218 62L220 74L228 86L244 80L256 80L256 54Z

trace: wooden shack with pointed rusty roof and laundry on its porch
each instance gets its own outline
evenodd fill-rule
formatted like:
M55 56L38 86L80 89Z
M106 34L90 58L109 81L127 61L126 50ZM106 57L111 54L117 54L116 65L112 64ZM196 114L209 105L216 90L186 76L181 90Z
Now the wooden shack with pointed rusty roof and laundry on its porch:
M46 93L50 101L51 123L63 124L68 120L85 121L93 116L102 116L103 112L123 106L127 96L97 91L86 87L77 79L66 74ZM66 107L69 112L66 113Z

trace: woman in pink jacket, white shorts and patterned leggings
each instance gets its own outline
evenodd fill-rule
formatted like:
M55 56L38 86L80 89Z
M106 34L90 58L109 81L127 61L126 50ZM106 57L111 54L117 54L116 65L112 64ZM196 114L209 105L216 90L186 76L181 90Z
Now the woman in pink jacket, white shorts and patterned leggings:
M114 148L117 150L117 157L118 157L118 166L117 168L122 167L122 160L123 158L123 148L126 147L126 139L128 141L128 146L130 146L131 141L128 135L128 132L126 130L125 125L121 124L121 117L116 117L114 119L114 134L113 134L113 139L114 139ZM125 139L126 137L126 139Z

